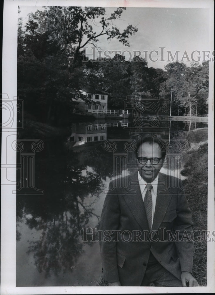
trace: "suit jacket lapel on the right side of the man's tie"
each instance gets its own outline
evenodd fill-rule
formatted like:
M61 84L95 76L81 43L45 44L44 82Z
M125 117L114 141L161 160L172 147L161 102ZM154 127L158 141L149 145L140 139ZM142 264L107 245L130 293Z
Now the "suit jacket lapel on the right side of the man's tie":
M159 173L158 178L158 189L157 189L157 198L154 212L154 219L152 224L152 230L157 230L164 219L166 209L169 205L172 194L161 194L159 191L165 191L167 185L166 176Z

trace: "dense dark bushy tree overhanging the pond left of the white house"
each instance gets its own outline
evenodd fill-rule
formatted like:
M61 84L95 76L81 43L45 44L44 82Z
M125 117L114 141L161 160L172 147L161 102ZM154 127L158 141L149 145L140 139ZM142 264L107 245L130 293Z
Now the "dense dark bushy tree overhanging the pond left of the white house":
M45 55L40 60L29 50L18 58L18 73L17 91L28 112L42 122L68 121L75 105L71 99L74 76L63 54Z

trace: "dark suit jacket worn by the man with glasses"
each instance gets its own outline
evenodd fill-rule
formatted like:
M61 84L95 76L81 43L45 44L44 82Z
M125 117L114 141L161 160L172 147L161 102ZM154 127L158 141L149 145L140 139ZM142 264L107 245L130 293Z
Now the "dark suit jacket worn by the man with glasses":
M171 188L167 186L167 177ZM137 171L121 180L111 181L101 214L100 230L106 240L100 243L104 279L109 282L140 286L150 251L177 278L180 279L181 271L192 273L193 242L189 241L192 217L178 178L159 173L152 225L152 230L157 232L151 237L148 236L149 226ZM111 230L112 233L107 232ZM116 236L114 230L125 232ZM177 240L171 239L174 233L178 234Z

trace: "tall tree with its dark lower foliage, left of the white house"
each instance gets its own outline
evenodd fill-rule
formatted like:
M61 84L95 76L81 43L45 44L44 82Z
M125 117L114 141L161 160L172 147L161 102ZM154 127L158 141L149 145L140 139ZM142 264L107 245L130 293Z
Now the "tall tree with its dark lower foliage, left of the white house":
M129 35L137 32L132 25L120 32L112 24L123 11L117 8L105 17L102 7L50 6L30 13L24 28L19 19L18 94L27 111L47 123L58 124L59 118L70 121L76 105L71 95L78 94L83 85L102 86L105 80L99 64L93 68L89 61L82 63L88 60L84 47L96 46L102 35L129 46ZM96 19L98 26L94 26ZM87 97L83 99L93 104Z

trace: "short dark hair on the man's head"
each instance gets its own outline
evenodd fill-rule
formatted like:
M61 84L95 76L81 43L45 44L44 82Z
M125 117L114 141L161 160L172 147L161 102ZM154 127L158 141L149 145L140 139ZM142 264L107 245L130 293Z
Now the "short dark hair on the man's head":
M136 150L135 150L136 157L137 157L137 152L140 145L142 145L144 142L149 142L149 144L157 143L158 148L161 151L162 158L165 157L169 145L168 145L168 142L164 141L164 138L161 137L160 135L156 135L156 136L148 135L138 140Z

